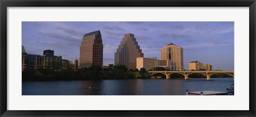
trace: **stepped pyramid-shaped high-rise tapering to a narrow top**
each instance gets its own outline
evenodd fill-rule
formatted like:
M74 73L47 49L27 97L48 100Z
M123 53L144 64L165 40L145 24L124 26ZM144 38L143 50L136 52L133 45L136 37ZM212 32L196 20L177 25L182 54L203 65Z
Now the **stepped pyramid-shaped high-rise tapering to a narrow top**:
M143 57L143 53L136 38L134 38L134 34L125 34L115 52L115 65L124 65L127 69L136 69L137 57Z

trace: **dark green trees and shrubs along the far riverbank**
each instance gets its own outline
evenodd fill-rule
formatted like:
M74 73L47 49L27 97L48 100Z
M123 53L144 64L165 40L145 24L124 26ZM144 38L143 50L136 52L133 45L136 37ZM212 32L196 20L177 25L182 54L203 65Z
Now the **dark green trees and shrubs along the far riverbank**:
M147 79L150 78L150 74L145 68L130 69L127 71L126 67L109 65L109 68L104 68L98 65L92 65L90 68L82 68L78 71L74 71L71 64L66 65L66 69L56 69L39 66L36 70L25 70L22 71L22 81L28 80L83 80L83 79ZM163 67L156 67L153 70L165 70ZM158 74L162 78L166 78L163 74ZM181 74L171 74L171 78L184 78ZM214 74L212 78L229 78L231 76L226 74ZM189 78L206 78L202 74L191 74Z

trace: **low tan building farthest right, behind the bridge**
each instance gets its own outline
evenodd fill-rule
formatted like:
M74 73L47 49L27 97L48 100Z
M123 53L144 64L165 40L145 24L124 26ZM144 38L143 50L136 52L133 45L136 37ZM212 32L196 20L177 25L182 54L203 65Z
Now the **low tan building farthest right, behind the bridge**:
M199 70L199 69L205 69L205 70L212 70L212 65L210 64L202 64L198 61L191 61L188 63L189 70Z

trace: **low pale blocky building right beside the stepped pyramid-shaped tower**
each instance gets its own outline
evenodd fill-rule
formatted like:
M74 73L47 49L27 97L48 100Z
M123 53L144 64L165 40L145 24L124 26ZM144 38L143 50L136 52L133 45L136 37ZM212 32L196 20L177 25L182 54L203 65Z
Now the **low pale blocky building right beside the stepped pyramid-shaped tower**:
M145 68L146 70L150 70L152 68L157 67L157 58L156 57L138 57L137 58L137 69Z

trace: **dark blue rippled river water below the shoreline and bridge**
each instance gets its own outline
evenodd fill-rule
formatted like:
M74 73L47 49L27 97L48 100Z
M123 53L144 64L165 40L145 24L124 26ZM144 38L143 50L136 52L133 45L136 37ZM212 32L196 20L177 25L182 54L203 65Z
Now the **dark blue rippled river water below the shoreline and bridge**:
M233 83L233 78L22 82L22 95L186 95L186 89L226 92Z

